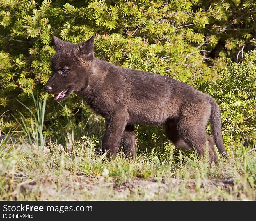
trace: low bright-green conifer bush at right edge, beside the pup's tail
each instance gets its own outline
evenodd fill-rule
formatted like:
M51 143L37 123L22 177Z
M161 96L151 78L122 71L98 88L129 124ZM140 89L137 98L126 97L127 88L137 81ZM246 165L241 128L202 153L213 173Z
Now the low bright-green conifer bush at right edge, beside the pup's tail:
M256 140L256 50L244 55L243 62L220 70L221 78L207 92L216 98L221 111L226 142L247 138Z

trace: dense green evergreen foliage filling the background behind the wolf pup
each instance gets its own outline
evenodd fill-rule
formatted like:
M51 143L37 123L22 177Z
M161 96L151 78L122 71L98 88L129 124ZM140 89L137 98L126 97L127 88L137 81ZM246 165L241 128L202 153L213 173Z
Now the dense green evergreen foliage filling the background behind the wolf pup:
M123 67L171 76L211 93L221 106L227 143L245 134L255 137L253 80L245 77L252 76L251 71L246 73L246 67L252 70L253 60L252 55L244 55L255 47L255 11L252 0L2 0L0 113L7 112L1 130L19 127L15 120L19 112L29 125L31 113L27 108L35 110L33 94L45 97L42 88L51 74L50 58L55 53L51 35L77 43L96 34L97 57ZM243 63L228 61L230 65L222 69L218 80L226 58L242 61L242 56ZM224 73L241 74L234 79L223 77ZM212 86L216 80L216 87ZM92 114L74 94L62 104L54 103L49 96L46 107L43 129L47 136L56 139L76 130L75 135L81 138L93 130L96 138L101 137L103 119ZM96 127L92 123L95 120ZM156 152L166 142L159 134L163 132L138 127L140 143L154 146ZM147 144L149 137L158 137L159 142Z

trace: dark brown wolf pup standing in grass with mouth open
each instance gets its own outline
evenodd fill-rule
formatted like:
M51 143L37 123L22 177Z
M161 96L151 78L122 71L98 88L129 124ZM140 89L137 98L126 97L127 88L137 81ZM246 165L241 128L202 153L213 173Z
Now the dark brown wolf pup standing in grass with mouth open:
M94 35L72 44L53 36L56 54L51 58L52 75L44 89L63 101L75 92L94 112L106 119L102 151L107 157L124 147L127 157L135 155L134 124L165 126L166 136L178 147L195 149L199 156L209 142L214 151L226 155L221 135L221 115L214 98L167 76L119 67L95 58ZM211 121L212 134L205 132Z

